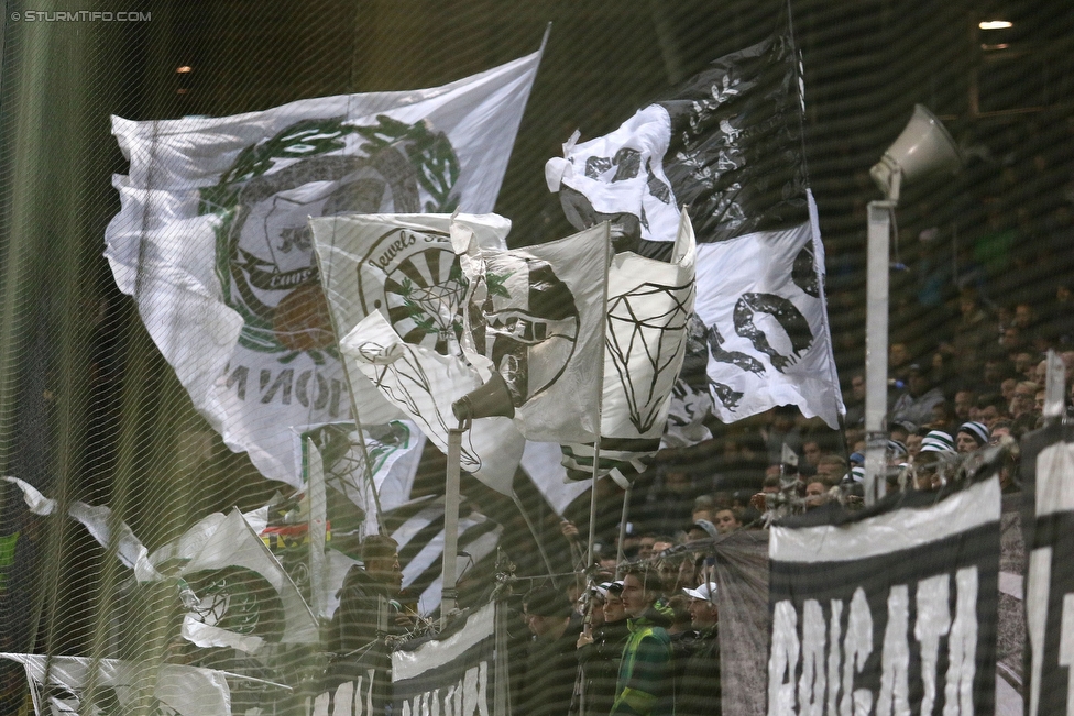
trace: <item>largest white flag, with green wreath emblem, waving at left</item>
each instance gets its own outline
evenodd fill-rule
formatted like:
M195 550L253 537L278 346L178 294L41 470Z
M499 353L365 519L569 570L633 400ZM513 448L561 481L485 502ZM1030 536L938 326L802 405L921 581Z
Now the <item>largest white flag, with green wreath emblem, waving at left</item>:
M291 428L349 417L307 218L491 211L538 60L234 117L112 119L131 162L106 232L116 283L195 407L266 477L300 486Z

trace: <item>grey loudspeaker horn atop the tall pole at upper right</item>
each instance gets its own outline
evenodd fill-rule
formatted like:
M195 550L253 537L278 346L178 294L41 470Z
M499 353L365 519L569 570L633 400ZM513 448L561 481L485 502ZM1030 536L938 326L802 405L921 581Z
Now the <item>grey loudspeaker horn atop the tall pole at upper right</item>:
M880 161L869 169L873 180L892 201L899 200L902 181L912 181L933 172L954 174L962 167L958 146L943 123L921 104Z

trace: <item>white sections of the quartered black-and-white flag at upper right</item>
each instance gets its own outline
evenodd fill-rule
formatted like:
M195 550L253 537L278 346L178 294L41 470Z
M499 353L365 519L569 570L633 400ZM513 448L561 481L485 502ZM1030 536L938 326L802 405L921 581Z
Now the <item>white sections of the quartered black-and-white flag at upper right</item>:
M639 220L642 239L669 242L678 225L677 200L664 173L670 132L667 110L654 104L605 136L582 144L576 144L572 137L563 145L565 158L550 159L545 167L548 187L552 191L558 191L560 185L571 187L601 213L633 214ZM616 176L617 155L623 150L639 153L639 168L632 178ZM809 212L808 223L789 231L758 232L716 243L706 243L705 236L700 239L695 312L708 329L719 331L725 351L746 356L737 362L713 356L709 362L714 414L724 422L778 405L796 405L807 417L818 416L836 428L839 416L845 412L828 326L824 250L812 196ZM791 280L798 253L809 244L814 255L817 296ZM793 304L809 323L809 348L794 354L775 320L759 317L765 324L757 328L765 339L789 359L788 365L777 367L754 341L738 335L734 309L745 294L775 295Z

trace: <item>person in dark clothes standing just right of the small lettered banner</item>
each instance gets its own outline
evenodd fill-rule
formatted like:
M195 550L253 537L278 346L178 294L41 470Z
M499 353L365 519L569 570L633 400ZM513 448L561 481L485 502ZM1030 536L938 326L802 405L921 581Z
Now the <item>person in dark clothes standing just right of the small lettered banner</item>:
M570 602L559 590L537 587L523 597L523 616L534 639L526 650L519 714L562 716L570 708L578 672L578 631L570 615Z

